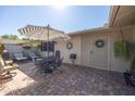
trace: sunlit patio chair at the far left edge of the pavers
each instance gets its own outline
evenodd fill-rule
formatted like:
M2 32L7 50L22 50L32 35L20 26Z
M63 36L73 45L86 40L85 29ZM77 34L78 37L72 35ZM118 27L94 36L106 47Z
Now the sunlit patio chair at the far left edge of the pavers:
M11 73L11 71L14 71L19 67L17 64L5 64L2 56L0 55L0 76L2 79L11 78L16 75L16 73Z

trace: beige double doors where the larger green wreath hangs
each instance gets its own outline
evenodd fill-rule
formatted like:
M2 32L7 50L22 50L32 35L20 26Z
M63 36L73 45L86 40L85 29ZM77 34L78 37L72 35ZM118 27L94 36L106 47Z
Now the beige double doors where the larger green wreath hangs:
M103 48L97 48L96 41L102 39ZM82 63L84 66L109 70L109 34L108 33L86 33L82 34Z

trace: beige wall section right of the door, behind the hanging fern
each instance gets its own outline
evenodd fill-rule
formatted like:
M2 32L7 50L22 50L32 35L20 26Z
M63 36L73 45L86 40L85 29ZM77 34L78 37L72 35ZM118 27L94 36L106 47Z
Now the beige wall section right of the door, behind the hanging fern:
M131 30L123 30L124 39L131 41ZM131 60L122 60L120 58L114 56L114 41L121 38L120 31L111 31L110 33L110 70L116 72L125 72L130 70Z

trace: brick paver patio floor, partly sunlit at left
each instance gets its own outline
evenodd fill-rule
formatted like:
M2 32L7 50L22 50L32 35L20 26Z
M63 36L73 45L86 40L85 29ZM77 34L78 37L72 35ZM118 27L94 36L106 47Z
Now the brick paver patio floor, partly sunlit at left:
M34 63L22 63L15 72L17 75L4 83L0 94L135 94L135 88L126 87L123 75L114 72L62 65L61 71L45 74Z

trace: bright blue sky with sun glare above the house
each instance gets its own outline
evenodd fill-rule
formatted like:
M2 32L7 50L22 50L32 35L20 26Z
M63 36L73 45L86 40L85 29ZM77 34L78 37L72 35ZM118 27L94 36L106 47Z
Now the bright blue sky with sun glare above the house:
M0 7L0 35L17 35L26 25L48 24L65 33L101 27L109 20L109 5Z

